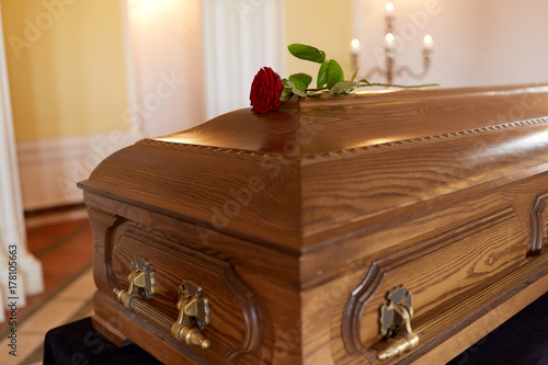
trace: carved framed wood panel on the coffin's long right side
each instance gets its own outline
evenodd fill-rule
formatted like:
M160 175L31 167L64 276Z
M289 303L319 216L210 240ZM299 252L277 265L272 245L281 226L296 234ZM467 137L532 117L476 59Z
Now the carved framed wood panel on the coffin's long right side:
M412 322L425 323L516 269L527 247L527 235L507 207L374 261L343 313L346 351L370 357L368 349L381 340L379 307L392 288L411 292Z

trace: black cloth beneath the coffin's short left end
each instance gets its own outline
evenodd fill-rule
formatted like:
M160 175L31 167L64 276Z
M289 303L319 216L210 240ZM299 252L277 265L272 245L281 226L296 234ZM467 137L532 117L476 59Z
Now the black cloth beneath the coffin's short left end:
M134 343L117 347L91 326L91 318L46 333L44 365L156 365L162 364Z

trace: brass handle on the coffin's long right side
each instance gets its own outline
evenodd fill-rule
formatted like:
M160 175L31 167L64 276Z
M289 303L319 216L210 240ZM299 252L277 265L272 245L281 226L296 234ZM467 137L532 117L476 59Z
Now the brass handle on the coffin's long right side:
M388 294L388 304L380 307L380 333L385 340L375 346L378 360L399 356L419 345L419 335L411 329L411 293L399 286Z

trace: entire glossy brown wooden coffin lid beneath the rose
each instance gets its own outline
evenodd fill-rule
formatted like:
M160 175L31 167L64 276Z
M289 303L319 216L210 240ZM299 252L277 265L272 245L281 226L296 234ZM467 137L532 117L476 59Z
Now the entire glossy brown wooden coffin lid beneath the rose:
M298 253L547 162L546 85L383 90L227 113L117 151L79 185Z

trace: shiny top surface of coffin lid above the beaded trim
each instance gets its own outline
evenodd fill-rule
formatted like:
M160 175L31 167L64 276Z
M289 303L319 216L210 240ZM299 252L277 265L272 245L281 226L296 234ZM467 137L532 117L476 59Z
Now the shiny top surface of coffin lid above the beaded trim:
M235 111L151 140L304 158L449 135L539 115L548 115L546 87L365 91L295 96L276 112ZM288 148L287 141L300 138L298 150Z

